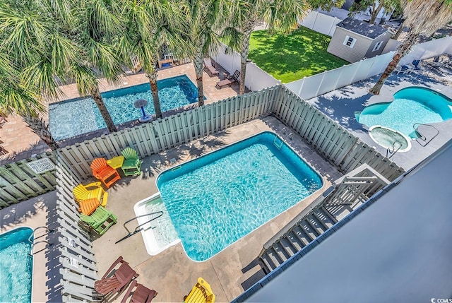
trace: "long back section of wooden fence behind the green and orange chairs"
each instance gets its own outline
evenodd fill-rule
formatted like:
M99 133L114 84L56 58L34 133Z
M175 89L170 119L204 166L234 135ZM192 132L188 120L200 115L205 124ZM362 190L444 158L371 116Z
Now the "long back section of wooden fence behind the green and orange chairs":
M110 133L61 149L61 154L83 179L91 177L94 158L112 158L130 146L141 158L270 114L278 86L196 107L151 123Z

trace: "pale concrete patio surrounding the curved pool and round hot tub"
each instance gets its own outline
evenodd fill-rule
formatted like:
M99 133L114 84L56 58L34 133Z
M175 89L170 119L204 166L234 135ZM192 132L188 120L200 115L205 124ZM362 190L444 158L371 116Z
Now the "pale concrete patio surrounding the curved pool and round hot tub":
M384 83L383 88L381 88L380 95L371 95L369 89L378 79L379 76L368 78L307 101L328 117L337 121L359 139L379 150L381 154L391 156L391 154L386 154L386 148L371 139L367 127L359 124L357 119L355 119L355 112L362 111L367 105L390 102L394 99L394 93L411 86L430 88L452 99L452 73L446 76L439 76L430 71L408 74L392 73ZM439 135L427 145L422 146L417 141L412 140L412 148L410 150L393 154L391 160L405 170L409 170L452 138L452 119L436 123L434 126L439 130Z

